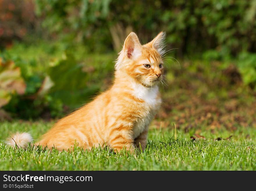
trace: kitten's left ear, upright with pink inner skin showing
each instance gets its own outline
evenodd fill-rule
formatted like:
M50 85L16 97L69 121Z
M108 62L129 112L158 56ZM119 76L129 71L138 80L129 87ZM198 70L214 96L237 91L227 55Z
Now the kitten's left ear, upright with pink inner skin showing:
M125 39L123 50L130 59L140 55L141 43L134 32L131 32Z

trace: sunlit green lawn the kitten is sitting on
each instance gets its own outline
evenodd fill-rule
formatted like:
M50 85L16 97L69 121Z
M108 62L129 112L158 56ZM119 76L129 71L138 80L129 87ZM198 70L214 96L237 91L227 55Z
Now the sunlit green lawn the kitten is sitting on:
M53 122L2 122L0 170L256 170L256 129L219 130L210 133L201 129L206 139L191 140L191 133L175 132L173 127L150 127L147 148L143 153L114 154L107 149L68 153L56 150L13 149L4 144L11 132L29 131L34 138L51 127ZM250 138L246 139L246 135ZM230 140L226 137L233 135ZM223 140L216 141L217 137Z

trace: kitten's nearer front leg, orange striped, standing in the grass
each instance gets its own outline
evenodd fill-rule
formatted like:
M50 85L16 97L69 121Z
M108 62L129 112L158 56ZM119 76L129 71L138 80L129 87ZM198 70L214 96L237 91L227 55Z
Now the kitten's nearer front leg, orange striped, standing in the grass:
M119 127L113 129L110 133L109 146L114 152L120 152L121 149L126 149L133 154L135 147L131 135L132 131L126 128Z

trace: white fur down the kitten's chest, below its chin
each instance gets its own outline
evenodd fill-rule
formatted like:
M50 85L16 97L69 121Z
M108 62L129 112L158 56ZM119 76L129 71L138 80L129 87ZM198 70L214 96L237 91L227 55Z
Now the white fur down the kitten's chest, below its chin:
M134 96L144 101L143 108L141 111L138 111L141 113L141 117L137 119L133 128L133 138L136 138L150 124L157 112L157 108L160 106L161 99L158 97L158 86L146 88L141 84L134 84L133 90Z

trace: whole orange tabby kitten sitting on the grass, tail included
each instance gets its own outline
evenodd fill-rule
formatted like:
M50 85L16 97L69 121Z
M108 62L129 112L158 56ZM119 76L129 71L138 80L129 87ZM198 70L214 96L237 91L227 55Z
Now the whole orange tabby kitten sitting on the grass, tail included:
M107 145L113 151L135 147L145 149L148 126L157 113L161 98L165 33L141 45L130 33L115 65L114 83L92 102L60 119L35 145L67 150L76 142L83 149ZM8 144L26 148L29 133L16 133Z

